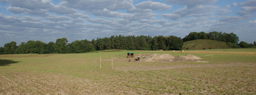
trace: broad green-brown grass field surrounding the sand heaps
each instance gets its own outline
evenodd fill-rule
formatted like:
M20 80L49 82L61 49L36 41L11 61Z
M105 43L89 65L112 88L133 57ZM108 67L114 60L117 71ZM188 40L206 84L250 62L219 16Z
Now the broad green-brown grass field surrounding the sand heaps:
M192 54L205 62L134 62L127 52ZM255 67L256 49L0 55L0 95L255 95Z

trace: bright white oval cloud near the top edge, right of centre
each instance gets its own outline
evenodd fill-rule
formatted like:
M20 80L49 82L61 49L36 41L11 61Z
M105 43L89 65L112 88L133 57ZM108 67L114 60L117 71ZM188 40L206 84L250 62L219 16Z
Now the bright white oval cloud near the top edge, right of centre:
M166 5L160 2L143 1L135 5L139 9L152 9L152 10L168 10L171 9L170 5Z

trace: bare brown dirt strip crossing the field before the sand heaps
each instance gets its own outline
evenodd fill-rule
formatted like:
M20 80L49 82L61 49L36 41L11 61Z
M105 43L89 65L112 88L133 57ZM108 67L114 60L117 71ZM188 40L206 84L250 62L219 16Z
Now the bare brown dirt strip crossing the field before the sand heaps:
M218 67L218 66L256 66L252 63L226 63L226 64L194 64L194 65L171 65L171 66L140 66L140 67L121 67L114 68L115 70L128 71L128 70L164 70L175 68L200 68L200 67Z

